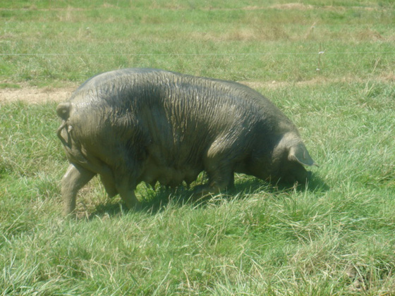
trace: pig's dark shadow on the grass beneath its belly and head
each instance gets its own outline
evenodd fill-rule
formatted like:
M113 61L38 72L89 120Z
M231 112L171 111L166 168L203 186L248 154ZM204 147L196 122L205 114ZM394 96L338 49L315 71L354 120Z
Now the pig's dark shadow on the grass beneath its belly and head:
M235 187L231 190L228 190L227 192L223 192L223 194L221 195L221 199L243 199L245 197L248 197L248 195L246 195L248 193L259 194L259 192L262 191L267 192L275 197L276 195L279 195L281 192L284 192L286 190L308 190L310 192L325 192L329 190L329 188L330 187L314 173L312 174L308 184L303 185L285 185L281 183L272 185L257 178L241 175L240 178L238 178L238 180L236 181ZM212 202L212 197L210 196L198 200L191 198L191 196L193 195L193 187L190 189L182 186L176 189L168 189L166 187L157 187L156 189L146 188L144 193L146 193L150 197L150 199L142 202L142 207L138 210L128 210L126 209L126 206L125 204L123 204L123 202L111 202L111 199L109 199L109 202L107 202L107 204L97 205L95 211L92 212L90 217L104 215L114 216L130 211L140 211L142 213L156 214L157 212L166 209L166 206L168 206L169 203L172 203L176 206L193 204L193 206L195 207L201 207L206 206L209 202Z

